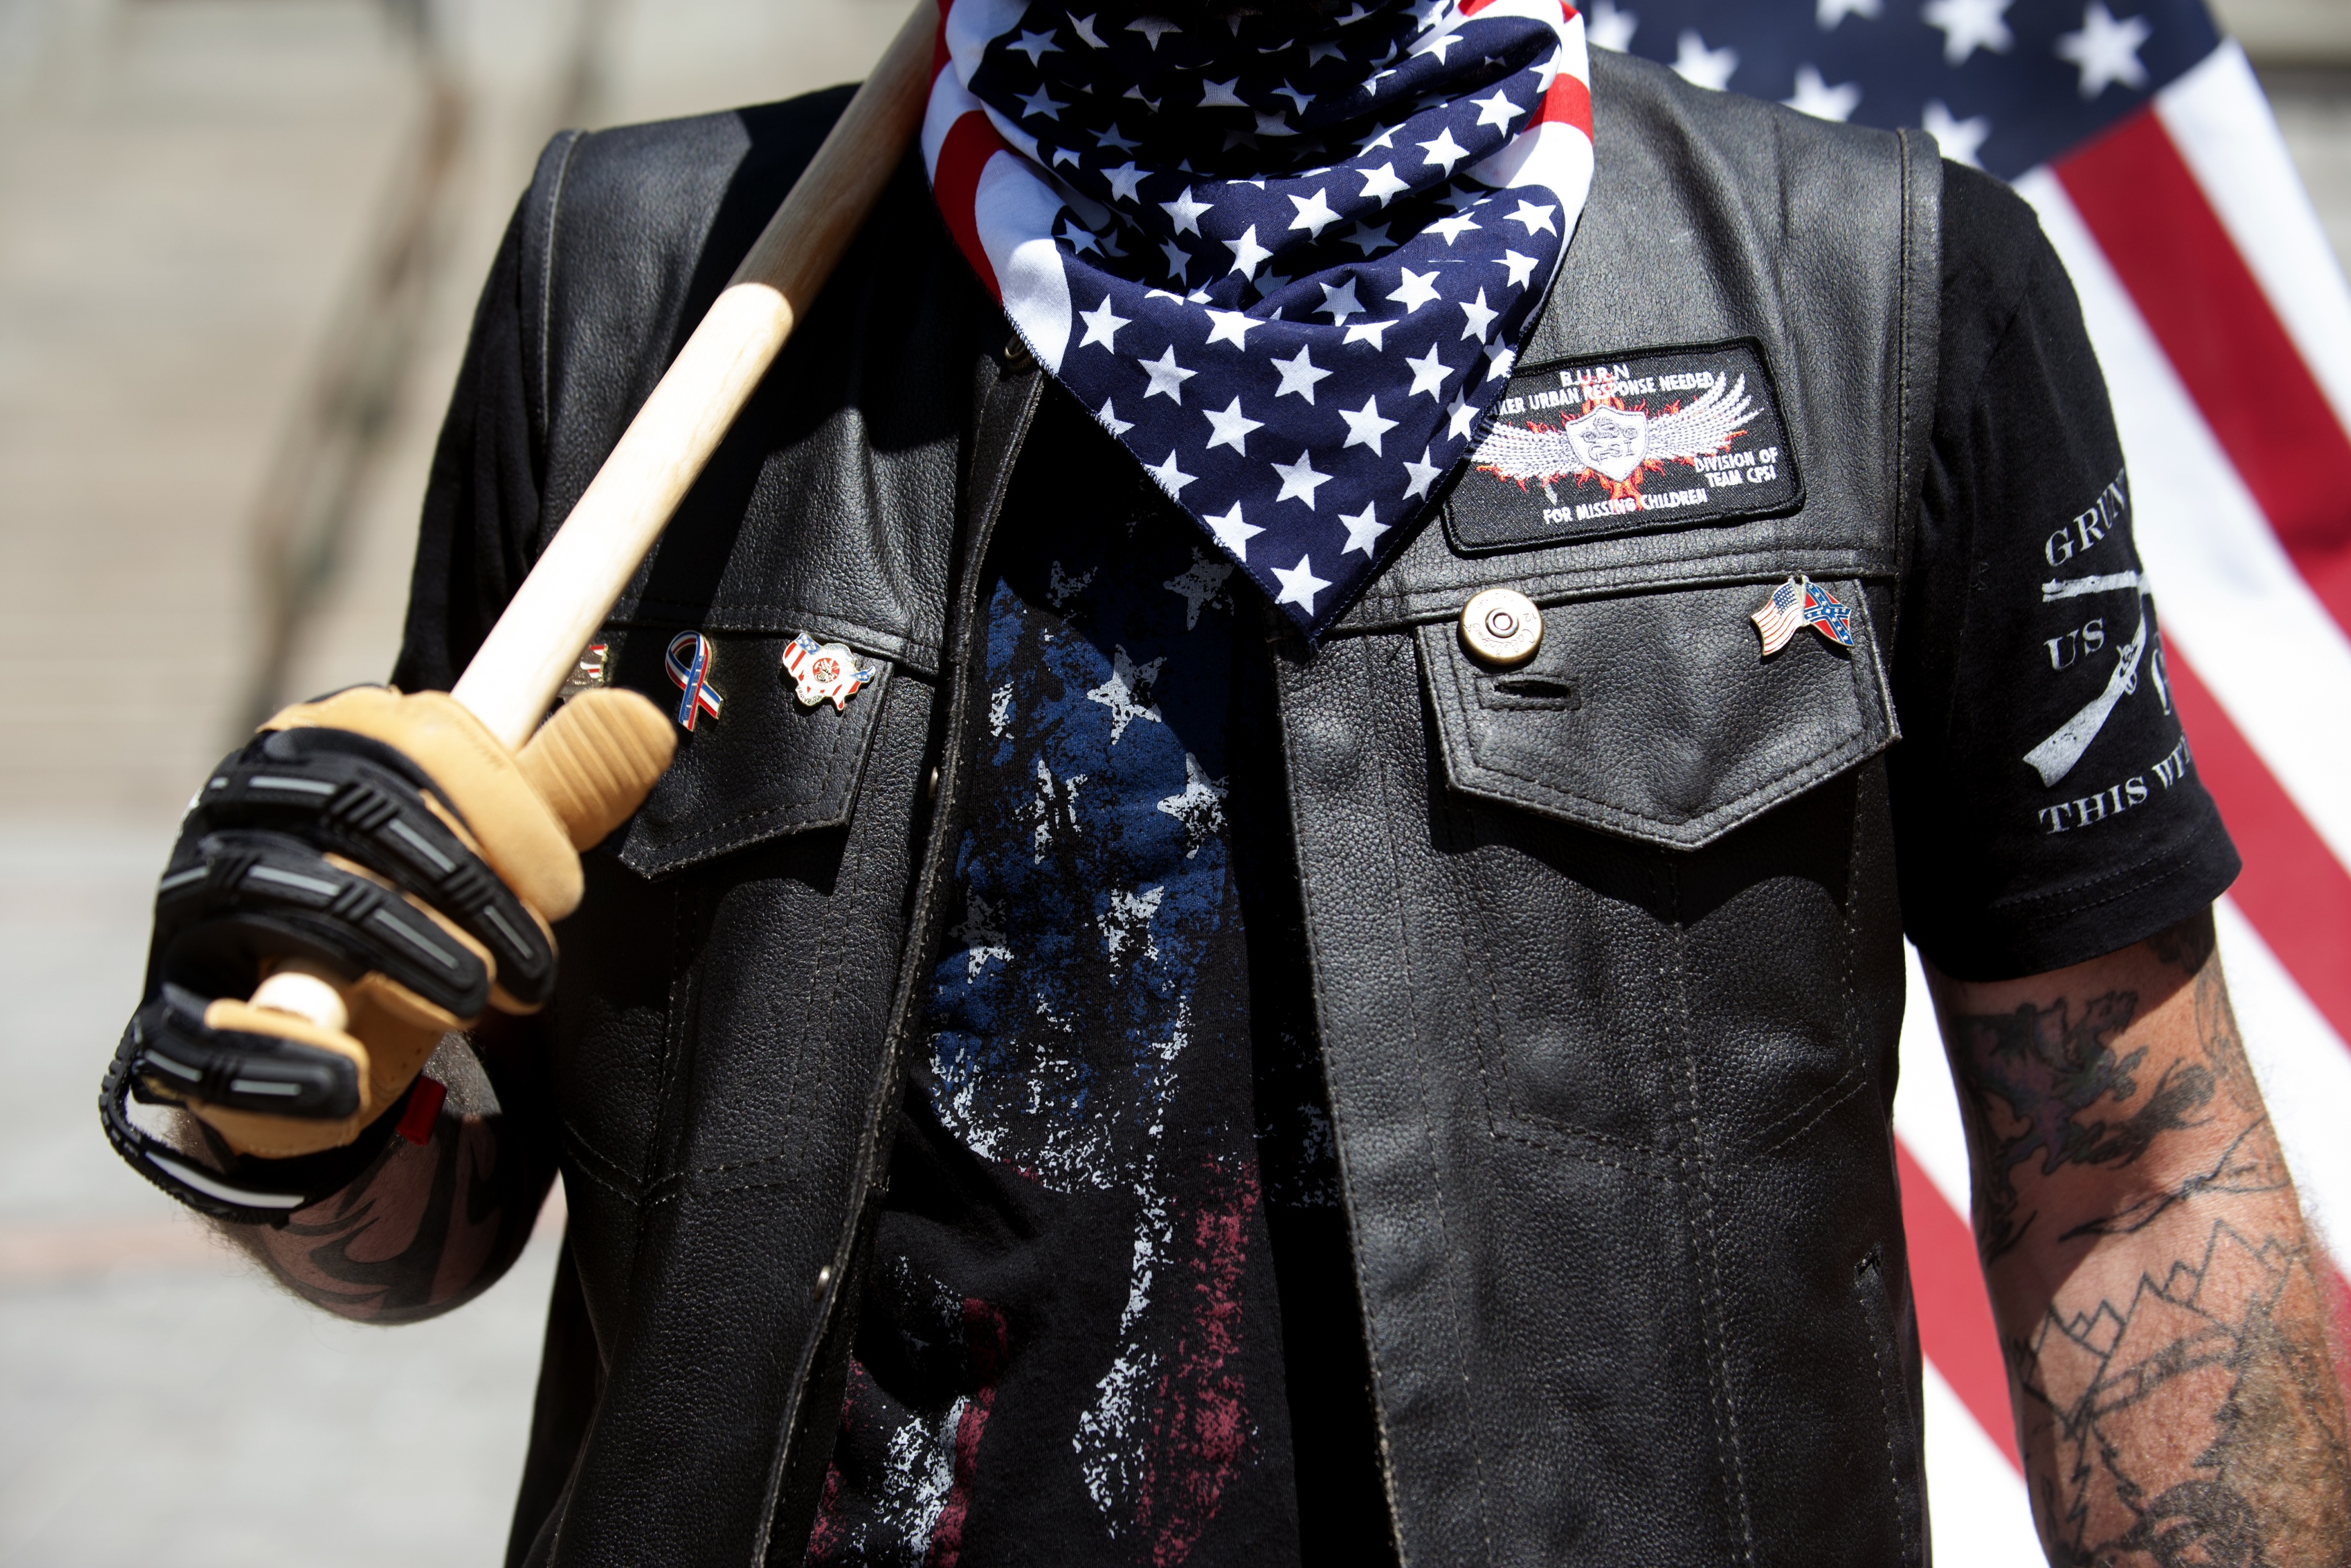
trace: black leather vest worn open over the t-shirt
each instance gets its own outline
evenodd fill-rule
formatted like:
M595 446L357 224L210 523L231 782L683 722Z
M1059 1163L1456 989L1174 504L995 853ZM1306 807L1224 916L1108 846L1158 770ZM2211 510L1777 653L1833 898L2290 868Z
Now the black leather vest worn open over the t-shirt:
M839 103L548 150L522 555ZM1415 1566L1925 1561L1881 755L1940 165L1615 54L1594 113L1521 360L1751 339L1803 505L1481 555L1432 522L1279 651L1396 1537ZM985 708L976 564L1039 395L1004 343L907 169L614 611L625 684L670 691L689 625L745 675L562 929L560 1307L592 1335L557 1312L534 1561L799 1559ZM1747 616L1794 571L1857 607L1850 654L1756 661ZM1545 616L1512 679L1455 632L1491 585ZM802 710L773 679L797 630L877 686Z

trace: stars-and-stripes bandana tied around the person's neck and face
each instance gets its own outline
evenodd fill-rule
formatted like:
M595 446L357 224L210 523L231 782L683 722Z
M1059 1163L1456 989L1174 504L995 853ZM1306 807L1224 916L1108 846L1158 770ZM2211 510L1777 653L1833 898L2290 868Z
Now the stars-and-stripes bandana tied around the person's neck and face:
M1027 350L1321 635L1469 451L1592 188L1566 0L947 0L924 165Z

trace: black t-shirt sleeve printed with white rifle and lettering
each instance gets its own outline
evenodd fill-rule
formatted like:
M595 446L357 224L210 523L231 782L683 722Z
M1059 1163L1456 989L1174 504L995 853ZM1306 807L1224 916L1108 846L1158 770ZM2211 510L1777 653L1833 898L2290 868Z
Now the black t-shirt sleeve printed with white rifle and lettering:
M1944 973L2095 959L2210 905L2238 858L2196 771L2130 477L2064 266L1944 165L1942 383L1902 595L1902 922Z

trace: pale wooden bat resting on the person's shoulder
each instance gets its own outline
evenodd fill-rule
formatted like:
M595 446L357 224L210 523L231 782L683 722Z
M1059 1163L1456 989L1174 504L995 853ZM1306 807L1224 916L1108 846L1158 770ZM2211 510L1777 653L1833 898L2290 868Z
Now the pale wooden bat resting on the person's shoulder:
M922 125L936 38L936 0L917 0L451 686L449 696L510 750L538 729L588 637L637 576L898 172ZM350 1023L336 978L308 961L270 973L252 1001L329 1030Z

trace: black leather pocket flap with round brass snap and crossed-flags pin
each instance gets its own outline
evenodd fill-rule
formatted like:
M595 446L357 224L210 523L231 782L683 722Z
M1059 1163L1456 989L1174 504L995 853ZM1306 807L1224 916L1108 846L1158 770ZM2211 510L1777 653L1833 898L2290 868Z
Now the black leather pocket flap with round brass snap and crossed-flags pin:
M1669 849L1749 818L1886 750L1886 670L1862 585L1853 646L1813 628L1770 658L1749 616L1768 583L1542 607L1542 646L1488 670L1455 621L1420 628L1446 776L1462 795Z

